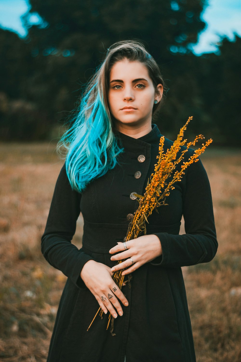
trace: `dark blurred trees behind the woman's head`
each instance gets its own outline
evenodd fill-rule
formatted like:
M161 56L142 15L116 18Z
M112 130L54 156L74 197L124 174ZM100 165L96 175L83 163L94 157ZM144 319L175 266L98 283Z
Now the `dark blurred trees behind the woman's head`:
M220 144L238 144L241 38L236 34L234 42L220 39L219 55L195 56L190 50L206 26L201 19L206 0L30 0L30 4L23 16L26 38L0 29L2 139L48 137L76 106L82 86L107 48L116 41L140 39L169 88L156 122L162 133L175 136L193 115L189 130L194 134L206 133ZM38 25L30 23L34 13L43 20Z

